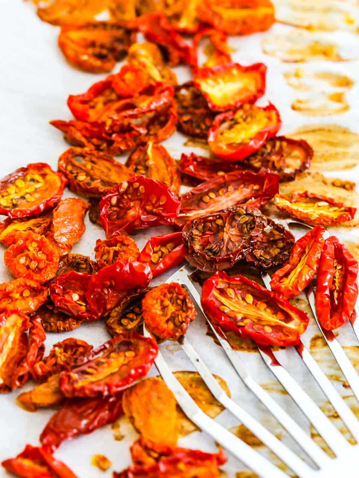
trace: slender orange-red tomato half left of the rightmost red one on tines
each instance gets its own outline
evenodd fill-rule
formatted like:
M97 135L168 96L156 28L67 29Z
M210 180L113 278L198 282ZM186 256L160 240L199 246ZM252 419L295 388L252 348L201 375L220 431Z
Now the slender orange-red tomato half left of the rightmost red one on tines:
M274 291L292 299L312 282L324 246L324 233L325 228L316 226L297 240L288 262L272 275L270 285Z

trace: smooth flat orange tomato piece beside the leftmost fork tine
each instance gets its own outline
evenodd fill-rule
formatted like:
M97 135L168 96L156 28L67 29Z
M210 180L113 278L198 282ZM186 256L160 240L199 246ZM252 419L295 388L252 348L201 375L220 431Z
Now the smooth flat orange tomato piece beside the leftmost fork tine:
M152 377L125 390L122 406L144 439L161 447L177 445L177 402L163 380Z

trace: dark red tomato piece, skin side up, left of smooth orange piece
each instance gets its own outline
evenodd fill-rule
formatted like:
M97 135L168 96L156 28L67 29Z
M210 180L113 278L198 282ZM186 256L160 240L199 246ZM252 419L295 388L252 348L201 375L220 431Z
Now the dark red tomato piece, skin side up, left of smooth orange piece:
M121 399L122 394L67 400L47 422L40 435L42 445L54 451L65 440L115 422L123 414Z

